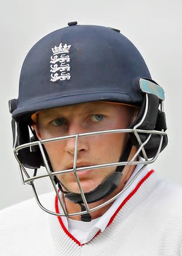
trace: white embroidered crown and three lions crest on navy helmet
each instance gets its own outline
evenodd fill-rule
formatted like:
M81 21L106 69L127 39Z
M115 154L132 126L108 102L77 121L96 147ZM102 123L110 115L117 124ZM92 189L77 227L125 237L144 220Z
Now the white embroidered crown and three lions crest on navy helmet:
M60 43L59 46L55 46L52 48L53 55L51 56L51 81L55 82L57 80L70 80L71 75L68 71L70 71L70 57L67 53L69 53L71 45Z

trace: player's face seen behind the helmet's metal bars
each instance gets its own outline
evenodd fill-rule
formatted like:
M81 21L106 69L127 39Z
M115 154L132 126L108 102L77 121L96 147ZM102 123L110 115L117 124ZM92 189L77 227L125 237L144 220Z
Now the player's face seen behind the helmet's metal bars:
M34 129L39 139L62 137L111 129L126 129L133 117L133 109L111 102L87 102L42 110L37 114ZM118 162L125 148L128 134L89 135L78 139L77 167ZM53 171L73 168L75 138L44 144ZM77 172L84 192L92 191L115 167ZM57 175L70 192L80 190L73 172Z

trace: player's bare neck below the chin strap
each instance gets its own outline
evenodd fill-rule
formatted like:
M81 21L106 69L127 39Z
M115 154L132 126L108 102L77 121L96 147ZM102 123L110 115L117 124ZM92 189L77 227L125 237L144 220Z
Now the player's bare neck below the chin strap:
M133 174L133 171L135 170L135 166L126 166L122 172L122 179L121 182L119 183L118 188L116 188L109 196L106 196L104 199L97 201L95 203L89 204L89 208L94 208L97 207L98 205L101 205L102 203L105 203L107 200L111 199L113 196L117 195L120 191L122 191L123 187L129 180L131 174ZM92 220L94 218L101 217L113 204L114 201L111 203L105 205L104 207L94 210L92 213L90 213ZM67 208L68 214L75 213L75 212L81 212L80 205L73 203L72 201L65 199L65 206ZM72 220L80 220L81 216L72 216L70 217Z

